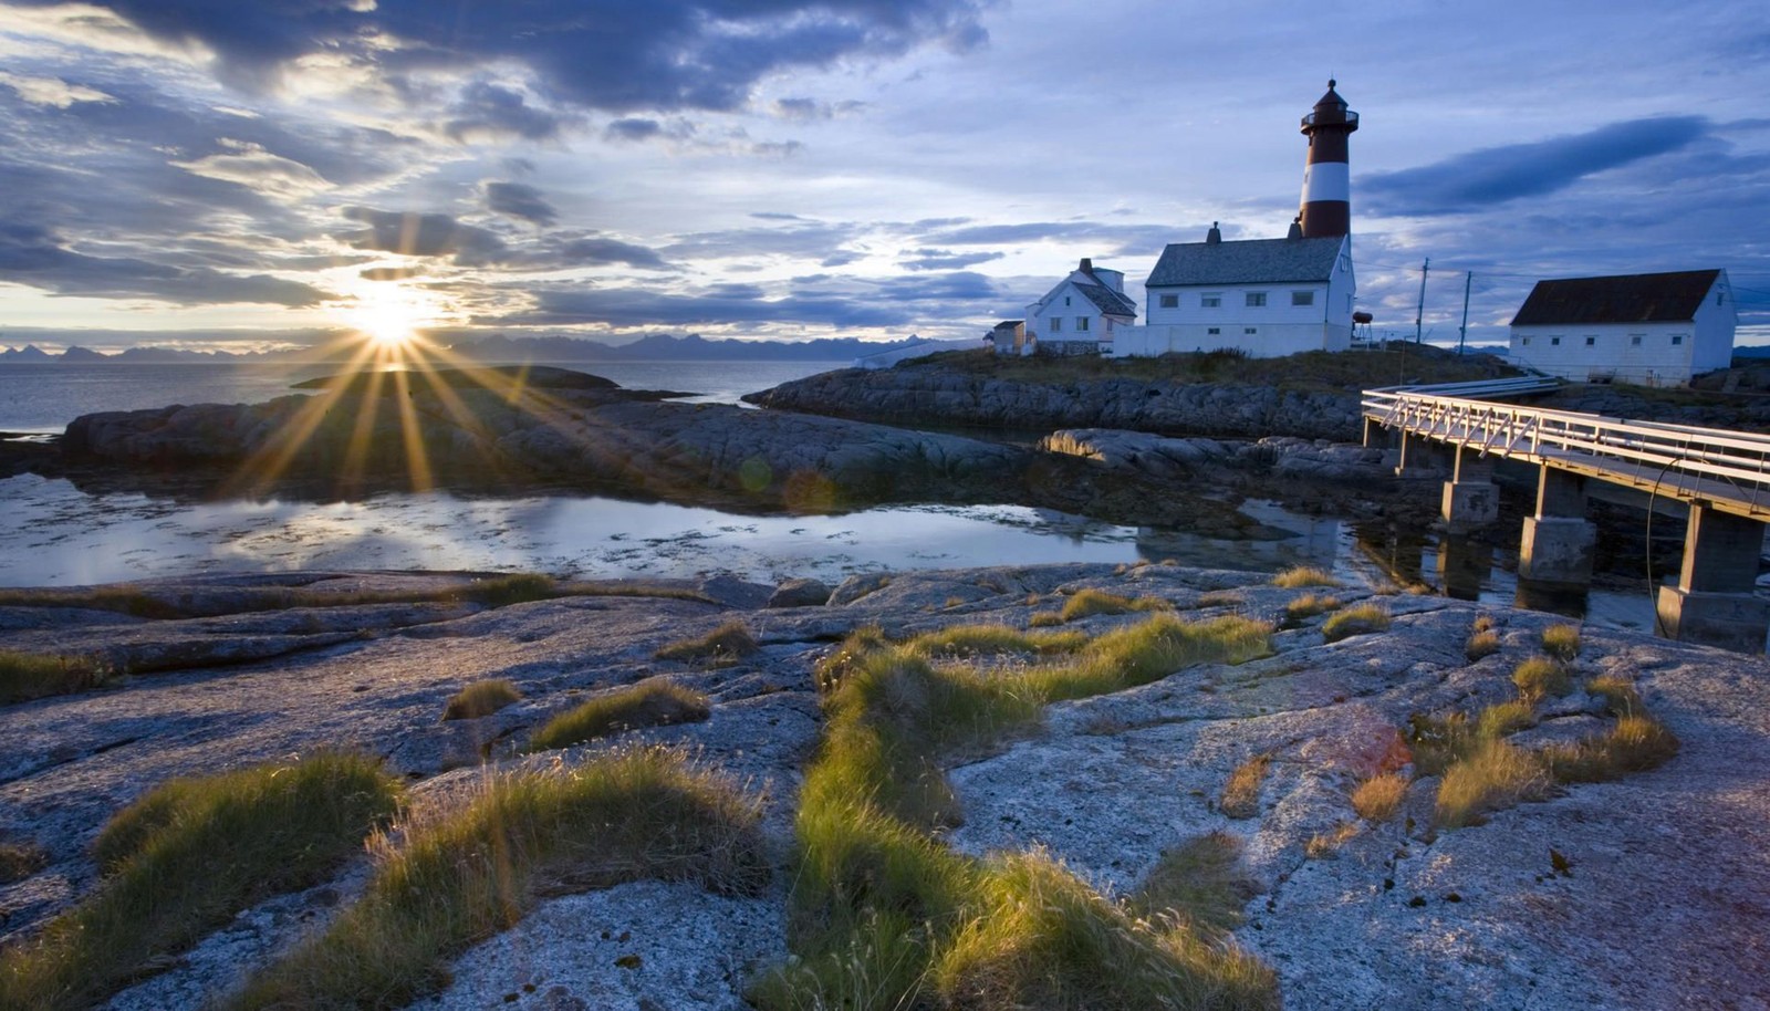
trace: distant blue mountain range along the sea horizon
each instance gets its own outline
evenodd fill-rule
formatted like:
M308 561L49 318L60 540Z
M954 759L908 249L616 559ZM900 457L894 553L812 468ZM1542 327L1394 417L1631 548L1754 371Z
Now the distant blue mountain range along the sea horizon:
M598 343L572 336L481 336L451 345L462 358L483 363L526 361L848 361L864 354L878 354L922 343L920 338L876 342L820 338L805 342L784 340L706 340L701 335L674 336L655 333L630 343ZM981 345L981 342L979 342ZM117 354L101 354L85 347L69 347L55 354L35 345L0 351L0 365L196 365L196 363L296 363L343 361L336 351L296 349L234 354L227 351L181 351L173 347L131 347Z

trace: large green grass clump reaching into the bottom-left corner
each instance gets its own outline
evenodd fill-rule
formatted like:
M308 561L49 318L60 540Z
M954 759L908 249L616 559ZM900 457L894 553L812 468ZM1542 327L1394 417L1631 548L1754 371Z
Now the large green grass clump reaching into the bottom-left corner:
M99 834L96 892L0 953L0 1007L88 1007L278 892L326 880L400 802L375 760L315 754L173 779Z

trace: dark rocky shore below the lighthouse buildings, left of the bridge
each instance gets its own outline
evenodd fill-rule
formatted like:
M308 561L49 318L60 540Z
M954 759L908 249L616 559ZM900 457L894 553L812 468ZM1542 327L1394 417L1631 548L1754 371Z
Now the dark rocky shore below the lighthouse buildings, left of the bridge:
M747 400L781 411L887 423L1007 430L1135 428L1258 439L1359 436L1356 393L1163 379L1025 382L938 367L825 372Z

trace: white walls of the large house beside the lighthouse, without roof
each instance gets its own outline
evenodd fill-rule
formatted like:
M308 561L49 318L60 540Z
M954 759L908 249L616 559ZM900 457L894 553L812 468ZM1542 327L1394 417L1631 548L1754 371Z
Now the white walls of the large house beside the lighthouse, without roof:
M1250 292L1264 292L1266 305L1250 306ZM1310 305L1294 305L1292 292L1308 292ZM1351 239L1342 243L1328 282L1150 287L1143 310L1149 326L1136 328L1136 333L1120 328L1113 358L1223 347L1243 349L1253 358L1345 351L1352 345L1356 292ZM1212 296L1218 299L1214 308L1205 305ZM1165 297L1175 305L1163 305Z

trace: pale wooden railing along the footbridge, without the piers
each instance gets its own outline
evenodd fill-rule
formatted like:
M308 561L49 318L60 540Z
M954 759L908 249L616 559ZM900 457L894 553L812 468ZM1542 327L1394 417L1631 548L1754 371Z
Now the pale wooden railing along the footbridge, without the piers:
M1579 469L1678 498L1731 499L1754 515L1770 512L1770 436L1395 388L1366 390L1363 409L1384 427L1483 455Z

